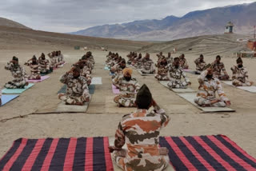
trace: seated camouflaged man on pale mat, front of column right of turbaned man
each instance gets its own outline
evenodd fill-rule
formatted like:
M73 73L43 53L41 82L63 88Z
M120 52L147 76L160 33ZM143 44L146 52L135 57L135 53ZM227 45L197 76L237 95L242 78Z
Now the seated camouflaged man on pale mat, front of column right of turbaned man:
M199 91L194 102L202 107L226 107L230 105L230 100L226 97L222 89L222 84L218 78L214 78L213 69L208 68L202 71L198 77ZM219 99L216 97L218 93Z

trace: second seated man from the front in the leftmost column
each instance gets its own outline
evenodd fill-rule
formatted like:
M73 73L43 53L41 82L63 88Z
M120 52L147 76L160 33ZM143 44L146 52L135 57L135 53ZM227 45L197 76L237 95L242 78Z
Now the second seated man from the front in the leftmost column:
M41 79L41 67L38 64L38 59L33 56L29 61L24 65L30 66L30 75L28 76L29 80L40 80Z

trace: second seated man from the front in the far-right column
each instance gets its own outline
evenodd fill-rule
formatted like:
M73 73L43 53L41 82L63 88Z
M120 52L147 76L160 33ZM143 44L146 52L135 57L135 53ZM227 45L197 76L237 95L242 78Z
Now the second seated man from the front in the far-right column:
M223 80L223 81L230 79L230 76L226 73L225 66L223 62L221 62L221 57L219 55L216 57L215 62L211 64L211 68L214 69L215 78L218 78L219 80ZM222 74L222 71L223 71L223 74Z

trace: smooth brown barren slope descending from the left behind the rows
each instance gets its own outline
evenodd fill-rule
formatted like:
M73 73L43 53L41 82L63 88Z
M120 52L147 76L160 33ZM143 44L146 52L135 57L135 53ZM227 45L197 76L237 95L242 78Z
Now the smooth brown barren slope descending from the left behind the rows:
M110 50L137 50L147 45L150 45L150 43L117 40L113 38L93 38L0 26L0 48L4 50L58 48L63 46L72 49L74 49L74 46L87 46L89 50L98 50L102 46Z

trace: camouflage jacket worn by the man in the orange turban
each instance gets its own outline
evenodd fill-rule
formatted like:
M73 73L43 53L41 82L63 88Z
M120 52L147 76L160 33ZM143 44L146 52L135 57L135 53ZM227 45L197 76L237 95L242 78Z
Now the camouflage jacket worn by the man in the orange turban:
M138 92L140 85L138 84L136 78L131 78L128 82L124 77L114 79L114 84L120 85L120 93L126 95L133 95Z

